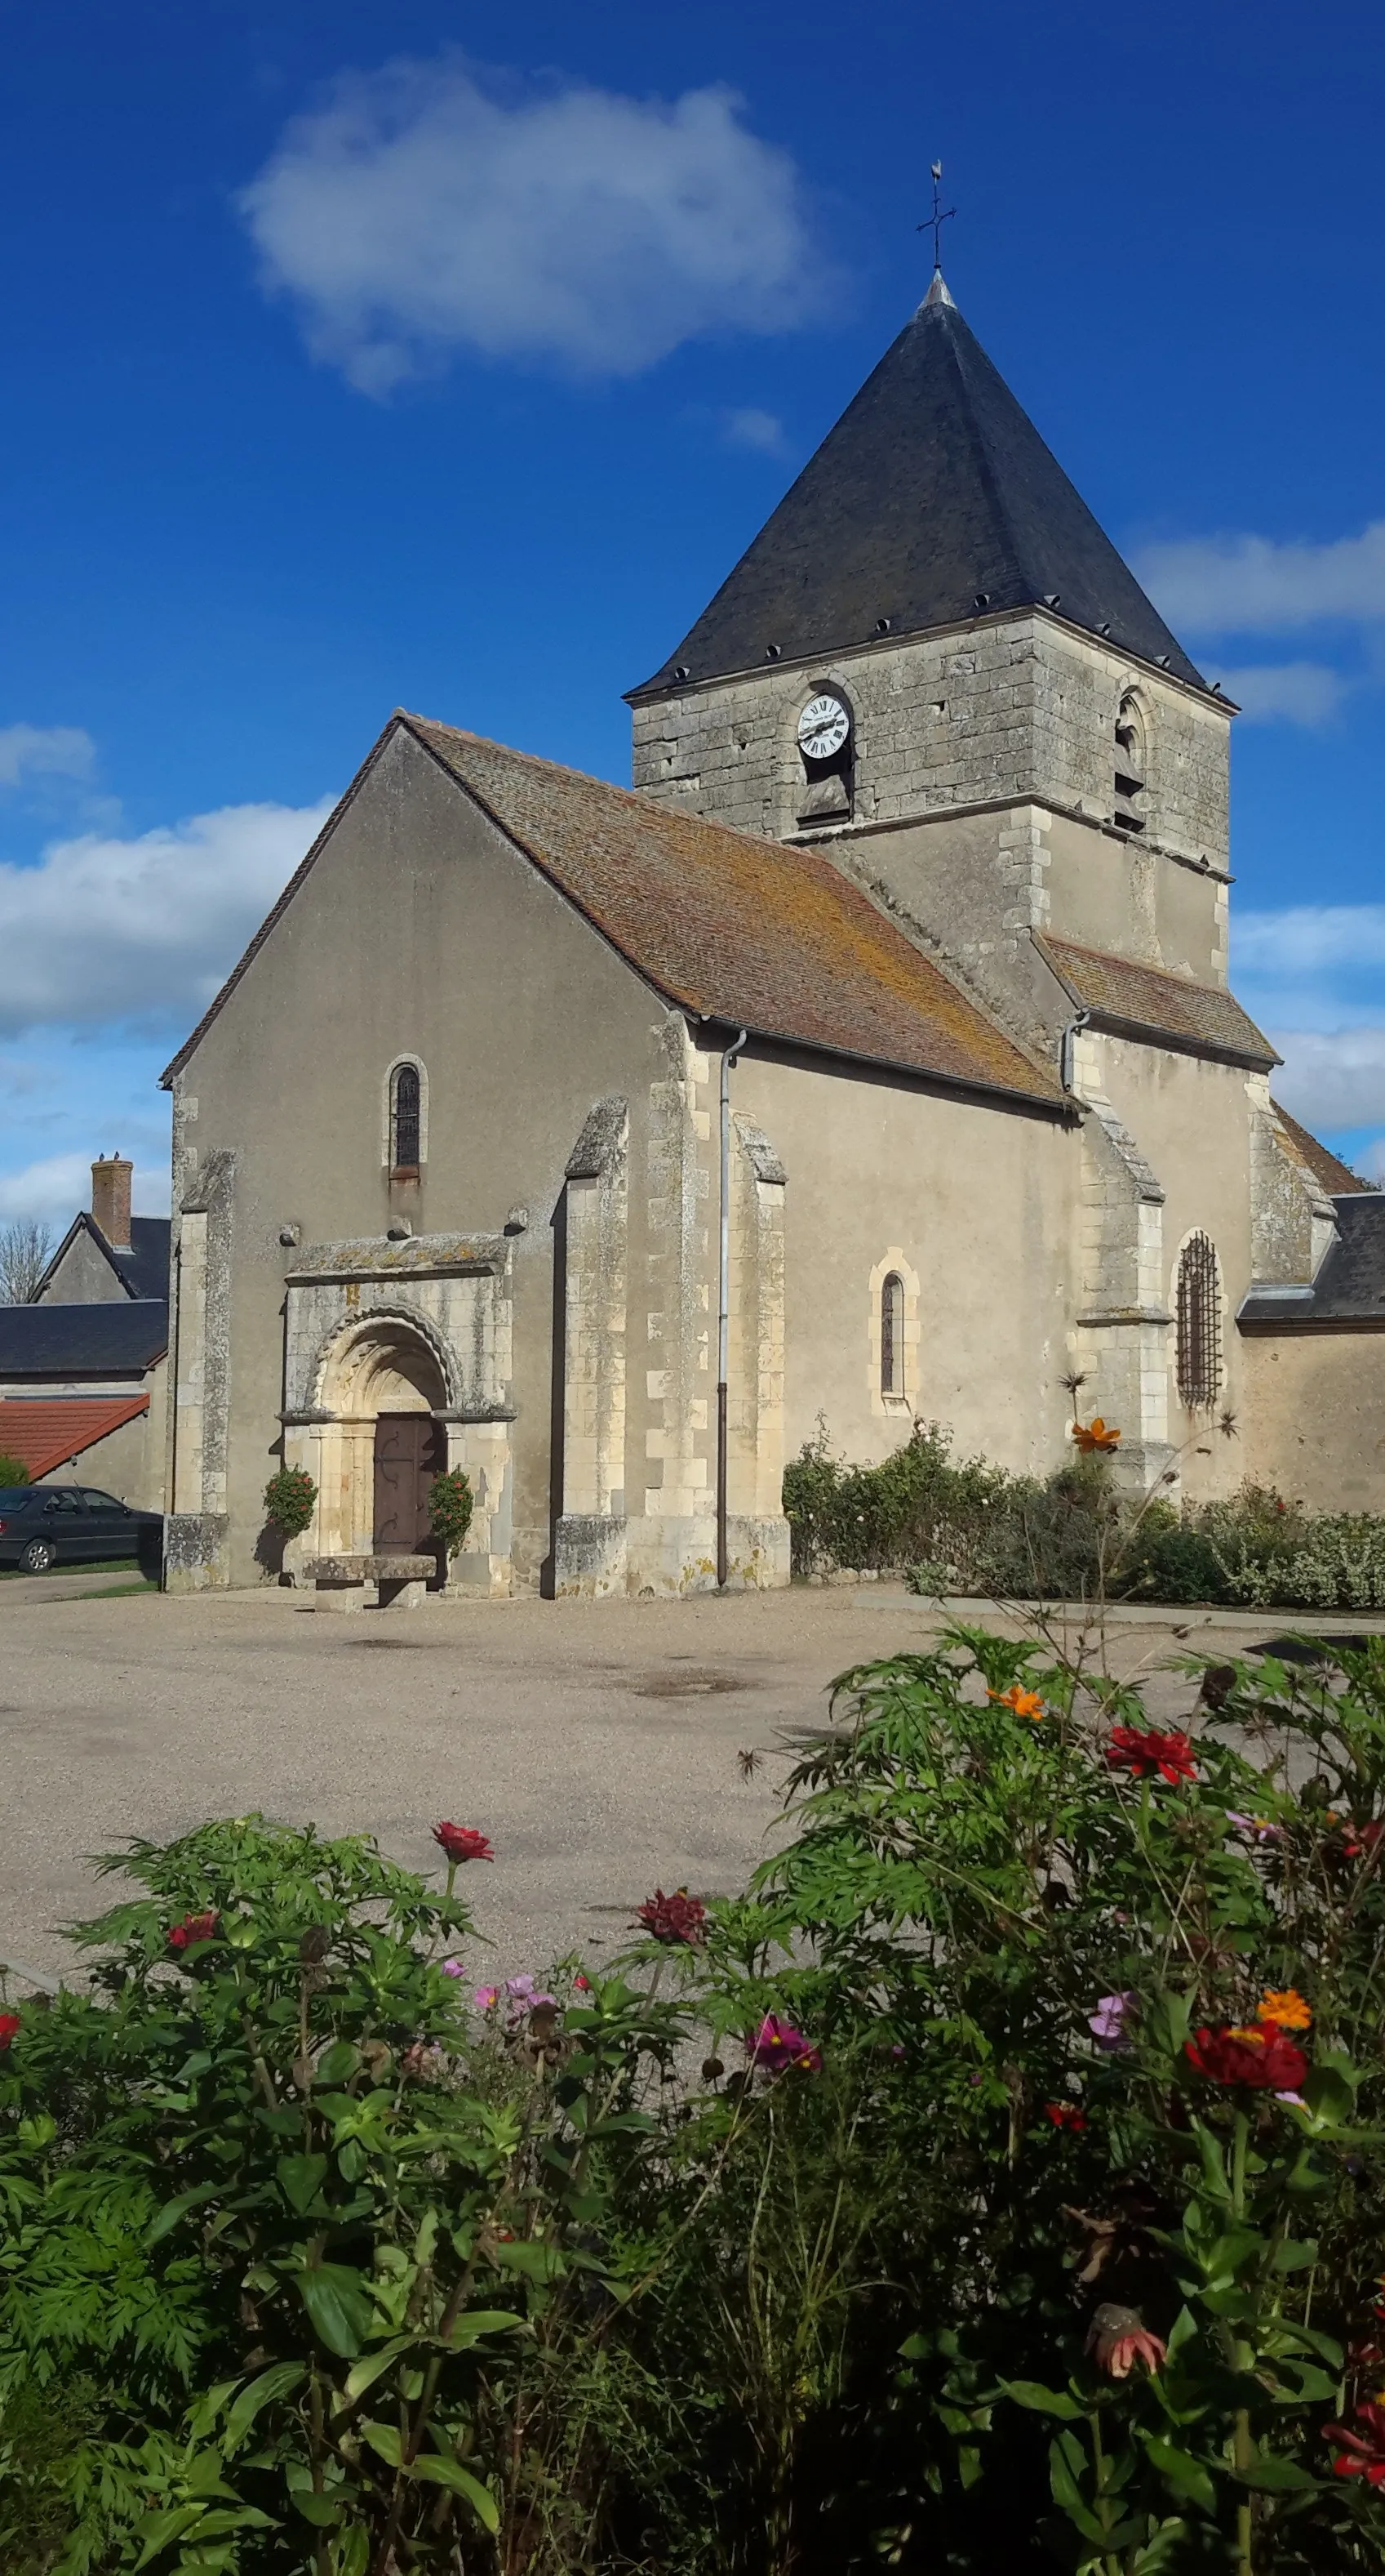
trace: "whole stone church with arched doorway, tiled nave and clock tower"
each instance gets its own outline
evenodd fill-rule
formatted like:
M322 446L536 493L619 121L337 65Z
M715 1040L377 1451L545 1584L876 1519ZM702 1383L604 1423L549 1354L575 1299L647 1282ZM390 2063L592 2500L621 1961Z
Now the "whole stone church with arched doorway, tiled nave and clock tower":
M175 1056L170 1584L788 1582L785 1458L1385 1507L1385 1195L1228 992L1233 706L934 276L633 788L394 714ZM1074 1399L1071 1381L1081 1381Z

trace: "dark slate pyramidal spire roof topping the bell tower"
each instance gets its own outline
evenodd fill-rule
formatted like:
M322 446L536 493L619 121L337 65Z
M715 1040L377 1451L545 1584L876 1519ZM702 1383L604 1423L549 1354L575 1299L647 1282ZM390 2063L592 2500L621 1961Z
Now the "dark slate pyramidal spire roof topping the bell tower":
M1207 688L940 283L631 698L1040 605Z

